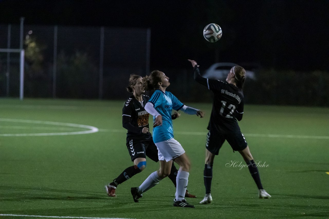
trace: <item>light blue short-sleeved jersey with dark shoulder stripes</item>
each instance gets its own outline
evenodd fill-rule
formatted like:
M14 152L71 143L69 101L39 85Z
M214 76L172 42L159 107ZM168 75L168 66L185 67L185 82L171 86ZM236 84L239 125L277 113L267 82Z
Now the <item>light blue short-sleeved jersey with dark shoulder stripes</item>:
M171 111L172 109L178 111L184 104L179 101L172 93L161 90L156 90L151 99L149 100L153 107L162 116L162 125L153 128L153 142L163 142L168 139L174 138ZM153 116L153 121L155 117Z

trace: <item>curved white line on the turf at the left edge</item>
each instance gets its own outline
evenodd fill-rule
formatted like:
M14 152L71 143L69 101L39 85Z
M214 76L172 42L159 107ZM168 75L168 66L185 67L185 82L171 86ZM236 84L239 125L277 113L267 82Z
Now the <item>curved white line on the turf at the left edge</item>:
M46 125L62 125L70 126L77 128L86 128L86 131L77 131L77 132L53 132L53 133L17 133L17 134L0 134L0 137L9 137L9 136L55 136L55 135L82 135L98 132L98 128L90 125L81 125L74 123L64 123L64 122L51 122L51 121L38 121L38 120L18 120L18 119L3 119L0 118L0 121L6 122L20 122L20 123L33 123L33 124L46 124Z

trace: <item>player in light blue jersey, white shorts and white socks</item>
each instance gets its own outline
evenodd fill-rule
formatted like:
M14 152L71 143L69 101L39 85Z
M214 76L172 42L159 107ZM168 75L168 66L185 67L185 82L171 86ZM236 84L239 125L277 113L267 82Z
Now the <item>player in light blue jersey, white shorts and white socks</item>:
M144 108L153 116L153 141L158 148L160 169L151 173L139 187L132 187L131 194L134 201L139 202L143 192L157 185L170 174L172 162L175 161L180 168L176 177L177 187L173 206L194 208L184 198L191 163L182 145L173 138L171 112L173 109L182 110L184 113L197 115L201 118L204 117L204 113L184 105L172 93L165 91L170 83L169 77L165 76L163 72L153 71L150 76L144 77L143 80L145 90L155 90Z

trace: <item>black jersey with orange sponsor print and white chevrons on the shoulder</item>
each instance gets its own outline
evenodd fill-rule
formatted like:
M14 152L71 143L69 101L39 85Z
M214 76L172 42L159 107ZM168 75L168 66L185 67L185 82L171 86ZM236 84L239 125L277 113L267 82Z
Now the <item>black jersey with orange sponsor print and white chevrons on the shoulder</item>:
M141 140L152 138L151 133L142 133L144 127L149 128L149 113L144 109L150 97L142 95L142 101L138 101L134 95L130 96L122 108L122 126L128 130L127 137Z

